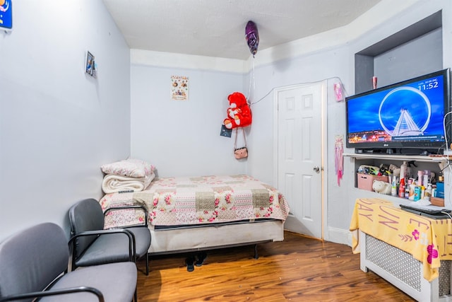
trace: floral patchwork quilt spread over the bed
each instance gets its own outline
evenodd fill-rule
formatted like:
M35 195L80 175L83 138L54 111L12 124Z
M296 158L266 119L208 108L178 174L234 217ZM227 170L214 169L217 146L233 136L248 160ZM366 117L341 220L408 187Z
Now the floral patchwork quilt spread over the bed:
M102 209L141 204L154 226L179 226L249 219L285 220L289 205L274 187L249 175L155 178L141 192L106 194ZM111 211L105 228L143 221L142 211Z

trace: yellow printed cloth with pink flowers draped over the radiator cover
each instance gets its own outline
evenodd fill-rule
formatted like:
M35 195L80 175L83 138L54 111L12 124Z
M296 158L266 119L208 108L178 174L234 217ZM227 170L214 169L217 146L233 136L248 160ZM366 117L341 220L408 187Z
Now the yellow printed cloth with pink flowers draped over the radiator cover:
M412 214L385 199L356 199L350 222L355 254L360 252L359 230L410 253L422 262L428 281L438 277L440 260L452 260L451 219Z

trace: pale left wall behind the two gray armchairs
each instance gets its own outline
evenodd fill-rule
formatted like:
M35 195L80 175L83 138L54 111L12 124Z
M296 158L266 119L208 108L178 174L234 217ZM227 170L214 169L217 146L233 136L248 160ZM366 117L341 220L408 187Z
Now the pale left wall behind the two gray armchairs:
M100 165L130 153L129 47L102 1L13 4L0 33L0 240L43 221L67 228L71 204L101 197Z

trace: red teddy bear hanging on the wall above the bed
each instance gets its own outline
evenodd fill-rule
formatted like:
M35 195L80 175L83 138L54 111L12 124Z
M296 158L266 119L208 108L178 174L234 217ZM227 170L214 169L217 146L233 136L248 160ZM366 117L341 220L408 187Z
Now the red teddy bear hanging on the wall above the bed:
M223 121L227 129L246 127L251 124L251 109L246 102L245 95L234 92L227 97L229 108L227 108L227 118Z

